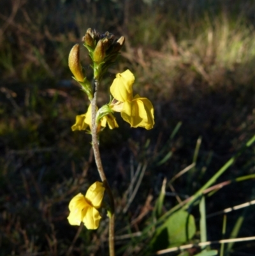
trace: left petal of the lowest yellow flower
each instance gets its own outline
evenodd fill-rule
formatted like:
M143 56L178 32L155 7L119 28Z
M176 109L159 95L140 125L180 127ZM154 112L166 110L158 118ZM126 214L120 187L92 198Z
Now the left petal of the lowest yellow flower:
M73 197L69 202L70 213L68 216L68 222L70 225L80 225L84 218L84 212L88 207L91 206L89 206L82 193L78 193L78 195Z

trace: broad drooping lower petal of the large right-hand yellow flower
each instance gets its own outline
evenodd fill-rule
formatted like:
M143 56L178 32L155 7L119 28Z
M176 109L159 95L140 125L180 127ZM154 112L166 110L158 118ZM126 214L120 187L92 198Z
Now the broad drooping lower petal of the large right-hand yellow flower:
M152 103L147 98L140 98L139 95L131 102L124 102L121 116L131 127L144 127L150 130L154 126Z

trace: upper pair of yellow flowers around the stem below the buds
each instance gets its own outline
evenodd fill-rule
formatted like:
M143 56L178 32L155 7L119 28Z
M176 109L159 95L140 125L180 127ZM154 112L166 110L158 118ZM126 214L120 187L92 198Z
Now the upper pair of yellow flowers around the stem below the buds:
M133 83L135 76L129 70L118 73L113 80L110 92L113 100L108 105L99 109L97 114L98 132L108 124L110 129L119 127L113 112L120 112L124 121L128 122L131 127L143 127L150 130L154 126L154 109L152 103L147 98L142 98L139 94L133 96ZM105 110L105 111L103 111ZM100 115L100 113L104 115ZM91 128L91 105L86 114L76 117L76 123L71 127L75 130L86 130Z

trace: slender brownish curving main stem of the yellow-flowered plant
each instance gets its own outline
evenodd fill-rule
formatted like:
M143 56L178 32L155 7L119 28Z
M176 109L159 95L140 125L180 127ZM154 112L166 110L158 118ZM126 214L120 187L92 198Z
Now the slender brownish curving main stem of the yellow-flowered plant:
M109 252L110 256L115 255L114 251L114 198L112 195L112 190L108 184L108 181L105 176L105 172L103 170L103 165L101 162L99 146L98 146L98 134L97 134L97 124L96 124L96 94L98 89L98 80L94 80L94 97L91 100L91 109L92 109L92 147L94 151L94 157L96 161L96 166L98 167L99 176L101 181L105 186L106 193L108 193L110 199L110 215L109 215Z

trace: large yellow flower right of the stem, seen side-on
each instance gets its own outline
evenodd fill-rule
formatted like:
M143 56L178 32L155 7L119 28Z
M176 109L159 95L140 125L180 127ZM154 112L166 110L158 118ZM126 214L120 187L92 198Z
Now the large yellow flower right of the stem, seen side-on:
M113 111L120 112L131 127L150 130L154 126L154 108L147 98L141 98L138 94L133 97L134 82L135 76L129 70L116 75L110 92L117 102L113 100L110 107Z

